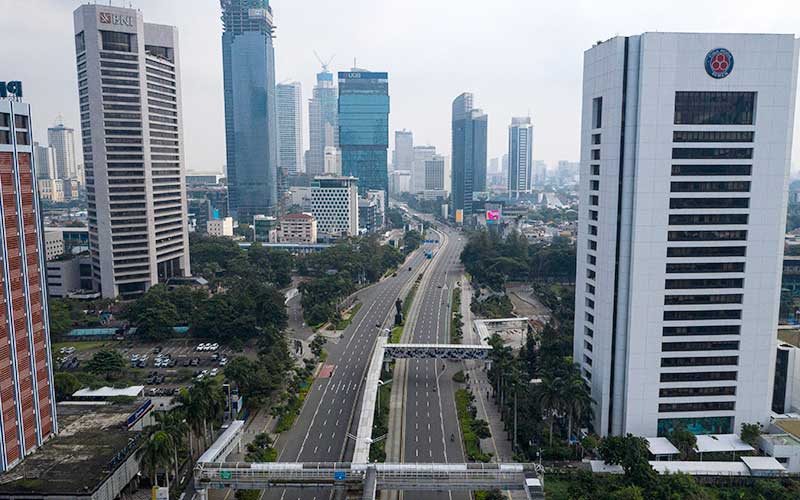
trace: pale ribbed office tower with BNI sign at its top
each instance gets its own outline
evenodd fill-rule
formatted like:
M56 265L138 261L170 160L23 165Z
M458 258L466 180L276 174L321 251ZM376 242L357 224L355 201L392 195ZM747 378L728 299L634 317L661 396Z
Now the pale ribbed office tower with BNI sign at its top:
M189 274L178 32L106 5L74 18L92 274L132 298Z

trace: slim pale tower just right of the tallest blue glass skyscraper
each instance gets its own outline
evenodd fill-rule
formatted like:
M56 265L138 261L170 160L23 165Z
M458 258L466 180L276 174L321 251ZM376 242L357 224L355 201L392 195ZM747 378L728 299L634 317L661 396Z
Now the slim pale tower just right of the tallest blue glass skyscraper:
M303 170L303 88L300 82L275 87L278 107L278 166L289 175Z

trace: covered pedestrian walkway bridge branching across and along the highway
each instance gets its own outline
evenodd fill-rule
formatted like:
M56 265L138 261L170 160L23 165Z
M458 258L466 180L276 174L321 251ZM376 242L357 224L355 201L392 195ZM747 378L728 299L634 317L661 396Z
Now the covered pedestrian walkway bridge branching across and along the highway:
M361 491L374 500L377 490L475 491L523 490L529 499L543 499L542 468L518 463L369 463L372 424L383 363L395 359L487 359L485 345L389 344L378 337L364 384L353 461L226 462L241 448L243 421L233 422L200 457L194 469L199 500L209 489L336 488Z

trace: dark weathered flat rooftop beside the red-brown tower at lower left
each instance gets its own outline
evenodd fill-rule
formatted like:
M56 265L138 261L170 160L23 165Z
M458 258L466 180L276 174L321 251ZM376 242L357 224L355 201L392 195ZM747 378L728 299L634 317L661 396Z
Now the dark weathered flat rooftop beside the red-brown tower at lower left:
M0 496L90 494L136 449L140 433L126 422L140 405L59 404L61 432L0 474Z

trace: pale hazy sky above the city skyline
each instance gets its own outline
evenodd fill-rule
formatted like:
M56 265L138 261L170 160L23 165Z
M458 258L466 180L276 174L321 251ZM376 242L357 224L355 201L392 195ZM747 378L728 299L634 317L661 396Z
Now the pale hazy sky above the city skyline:
M122 0L112 0L121 5ZM2 80L23 80L35 133L60 113L79 128L72 11L80 0L0 0ZM108 3L108 0L96 3ZM124 0L147 22L180 31L186 166L220 171L225 157L217 0ZM489 115L489 156L507 149L512 116L530 113L534 158L579 157L583 51L644 31L796 33L797 0L271 0L277 80L299 80L304 100L319 70L389 72L390 135L450 154L450 103L475 94ZM800 115L798 115L800 116ZM308 147L304 106L305 147ZM800 126L795 158L800 158ZM76 145L76 146L79 146ZM797 163L797 162L795 162Z

